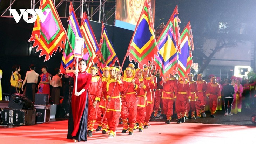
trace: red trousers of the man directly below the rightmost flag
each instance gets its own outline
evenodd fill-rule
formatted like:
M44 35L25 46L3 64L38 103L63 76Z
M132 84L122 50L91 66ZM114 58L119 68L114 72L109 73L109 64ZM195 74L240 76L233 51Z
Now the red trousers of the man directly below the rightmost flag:
M184 117L186 114L187 96L185 94L177 94L177 100L175 101L175 108L178 119Z

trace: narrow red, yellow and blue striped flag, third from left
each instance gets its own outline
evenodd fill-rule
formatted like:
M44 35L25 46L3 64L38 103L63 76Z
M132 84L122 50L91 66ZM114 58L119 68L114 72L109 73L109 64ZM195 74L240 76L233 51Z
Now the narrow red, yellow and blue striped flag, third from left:
M99 44L96 40L93 29L90 25L88 16L85 12L83 13L83 17L81 19L80 29L85 38L85 43L88 48L88 53L85 53L85 56L87 56L88 59L92 58L92 60L89 61L92 61L93 64L97 63L97 66L100 68L98 74L101 76L103 74L103 68L106 66L106 64L101 54ZM87 71L88 68L92 66L92 63L88 63Z

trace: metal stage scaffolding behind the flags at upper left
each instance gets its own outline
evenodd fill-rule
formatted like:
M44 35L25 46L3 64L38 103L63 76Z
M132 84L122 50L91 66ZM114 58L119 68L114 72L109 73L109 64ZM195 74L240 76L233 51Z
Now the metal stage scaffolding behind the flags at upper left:
M28 0L29 1L29 0ZM1 14L1 16L12 17L9 9L17 0L10 0L9 6ZM89 20L114 25L116 0L53 0L54 5L61 18L68 18L69 4L72 2L76 16L81 18L83 12L86 12ZM35 9L40 5L40 0L30 0L30 8ZM18 11L19 13L19 11Z

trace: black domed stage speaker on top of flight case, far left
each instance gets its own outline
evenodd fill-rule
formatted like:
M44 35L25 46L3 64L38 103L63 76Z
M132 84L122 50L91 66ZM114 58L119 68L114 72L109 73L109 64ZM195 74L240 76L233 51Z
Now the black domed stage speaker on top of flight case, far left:
M11 109L35 109L32 101L19 93L12 94L8 107Z

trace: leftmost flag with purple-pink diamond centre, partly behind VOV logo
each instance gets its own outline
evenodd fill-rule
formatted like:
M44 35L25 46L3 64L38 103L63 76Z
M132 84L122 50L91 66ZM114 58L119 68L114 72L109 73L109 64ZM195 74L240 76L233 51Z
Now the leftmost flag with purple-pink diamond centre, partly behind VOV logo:
M34 41L32 48L38 46L36 52L41 50L39 57L45 55L44 61L47 61L53 52L56 53L59 47L60 51L64 47L66 40L65 29L63 29L52 0L41 0L39 9L42 10L44 15L47 14L48 10L46 9L50 9L50 12L43 23L38 16L28 42Z

